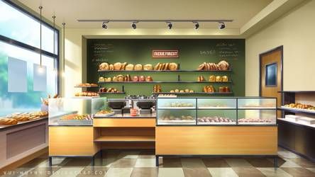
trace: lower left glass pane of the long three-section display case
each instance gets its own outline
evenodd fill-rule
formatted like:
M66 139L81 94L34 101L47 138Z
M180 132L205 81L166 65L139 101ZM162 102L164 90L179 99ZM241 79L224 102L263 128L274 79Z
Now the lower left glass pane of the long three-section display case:
M196 125L196 110L157 110L157 125Z

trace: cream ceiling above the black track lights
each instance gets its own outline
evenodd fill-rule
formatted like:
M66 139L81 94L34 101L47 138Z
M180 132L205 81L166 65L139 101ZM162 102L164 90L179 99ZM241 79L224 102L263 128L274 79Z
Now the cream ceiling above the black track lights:
M233 19L227 28L241 28L272 0L18 0L66 28L101 28L99 22L77 19ZM216 28L217 23L200 23L201 28ZM138 23L138 28L166 28L165 23ZM130 23L109 23L109 28L129 28ZM174 28L192 28L192 23L174 23Z

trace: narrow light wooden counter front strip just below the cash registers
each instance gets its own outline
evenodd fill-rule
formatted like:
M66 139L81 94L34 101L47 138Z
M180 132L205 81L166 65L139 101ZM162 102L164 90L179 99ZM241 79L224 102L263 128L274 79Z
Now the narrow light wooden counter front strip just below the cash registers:
M93 127L155 127L155 118L94 118Z

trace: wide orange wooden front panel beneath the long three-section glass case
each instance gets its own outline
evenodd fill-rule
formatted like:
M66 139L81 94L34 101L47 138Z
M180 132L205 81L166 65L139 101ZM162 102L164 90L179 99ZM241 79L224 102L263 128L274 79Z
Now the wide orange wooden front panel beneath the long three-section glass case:
M277 155L276 126L157 126L157 155Z

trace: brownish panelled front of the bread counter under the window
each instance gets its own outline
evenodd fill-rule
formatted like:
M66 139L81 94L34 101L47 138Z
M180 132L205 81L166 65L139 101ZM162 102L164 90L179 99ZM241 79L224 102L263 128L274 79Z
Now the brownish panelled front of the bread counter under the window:
M0 127L0 169L48 147L48 118Z

